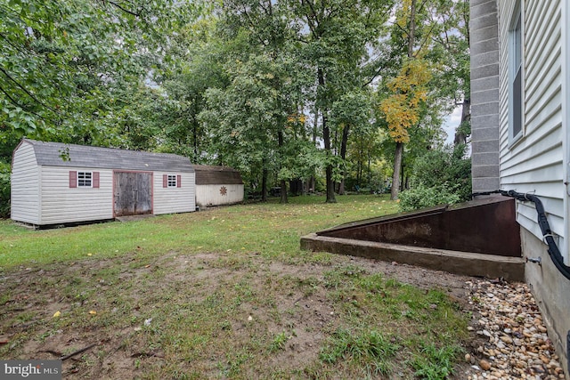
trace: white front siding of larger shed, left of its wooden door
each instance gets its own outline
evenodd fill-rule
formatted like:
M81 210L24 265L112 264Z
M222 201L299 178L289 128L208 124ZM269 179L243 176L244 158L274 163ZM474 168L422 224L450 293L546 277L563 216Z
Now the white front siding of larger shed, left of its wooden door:
M69 189L69 171L99 172L99 189ZM109 169L42 166L41 224L112 219L112 181Z

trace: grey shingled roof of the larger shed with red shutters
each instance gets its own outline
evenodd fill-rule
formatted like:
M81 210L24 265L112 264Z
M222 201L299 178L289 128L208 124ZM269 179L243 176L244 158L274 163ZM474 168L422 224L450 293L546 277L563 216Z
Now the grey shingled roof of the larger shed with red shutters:
M137 150L91 147L24 139L34 148L37 165L94 167L141 171L165 171L193 173L190 158L168 153L149 153ZM69 154L68 154L69 152ZM69 159L63 159L65 153Z

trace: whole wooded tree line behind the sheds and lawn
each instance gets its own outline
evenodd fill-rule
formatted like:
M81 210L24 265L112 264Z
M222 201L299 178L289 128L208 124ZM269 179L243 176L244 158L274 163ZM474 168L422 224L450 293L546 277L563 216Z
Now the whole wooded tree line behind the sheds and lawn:
M264 200L469 192L467 0L0 0L0 20L3 216L22 137L233 166Z

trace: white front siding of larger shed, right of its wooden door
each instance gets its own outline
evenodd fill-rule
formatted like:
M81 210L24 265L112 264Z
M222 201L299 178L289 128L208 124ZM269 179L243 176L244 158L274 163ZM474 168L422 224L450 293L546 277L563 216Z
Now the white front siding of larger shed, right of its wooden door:
M153 175L152 214L187 213L196 209L196 190L194 173L180 175L180 187L163 187L163 176L172 173L155 172ZM176 178L176 177L175 177Z

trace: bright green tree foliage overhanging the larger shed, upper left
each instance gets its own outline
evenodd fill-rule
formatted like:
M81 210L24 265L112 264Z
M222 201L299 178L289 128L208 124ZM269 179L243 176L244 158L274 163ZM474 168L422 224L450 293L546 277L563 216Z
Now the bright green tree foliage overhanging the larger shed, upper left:
M89 142L117 92L167 60L160 46L195 10L175 0L0 0L4 138Z

